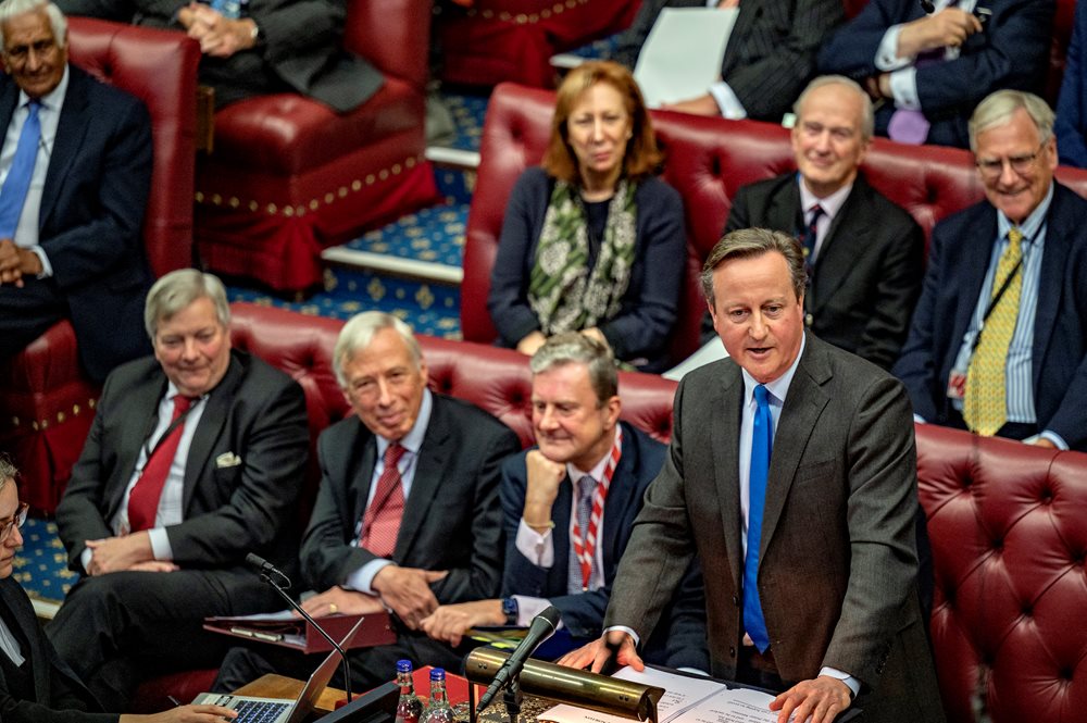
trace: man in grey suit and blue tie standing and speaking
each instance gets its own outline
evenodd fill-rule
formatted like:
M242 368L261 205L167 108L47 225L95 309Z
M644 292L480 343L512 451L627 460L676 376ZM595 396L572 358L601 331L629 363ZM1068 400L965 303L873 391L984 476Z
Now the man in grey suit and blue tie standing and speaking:
M727 234L702 286L729 358L680 383L604 637L564 662L599 670L617 648L640 666L637 640L698 552L712 672L782 691L780 723L854 705L866 721L942 721L902 385L804 332L803 255L785 234Z

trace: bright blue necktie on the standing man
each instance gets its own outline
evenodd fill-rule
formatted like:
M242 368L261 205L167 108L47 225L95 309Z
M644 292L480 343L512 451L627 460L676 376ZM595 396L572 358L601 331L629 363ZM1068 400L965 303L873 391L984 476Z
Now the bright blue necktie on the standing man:
M751 434L751 472L748 477L748 551L744 561L744 628L759 652L770 647L766 621L759 600L759 544L762 540L762 510L766 503L766 476L770 472L770 450L774 446L774 423L770 416L766 387L754 388L758 409Z

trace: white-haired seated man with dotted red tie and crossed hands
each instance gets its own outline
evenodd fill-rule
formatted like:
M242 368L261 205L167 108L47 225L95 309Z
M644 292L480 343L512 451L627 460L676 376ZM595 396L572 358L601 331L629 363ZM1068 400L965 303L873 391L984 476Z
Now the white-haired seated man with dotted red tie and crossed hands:
M457 669L461 653L420 623L439 604L498 594L498 482L502 460L521 449L517 436L477 407L432 392L418 342L389 314L349 321L333 363L354 415L317 442L321 488L301 557L307 583L322 591L302 607L314 616L393 613L396 644L348 653L355 689L391 680L400 658ZM268 672L305 677L322 657L238 647L215 689Z

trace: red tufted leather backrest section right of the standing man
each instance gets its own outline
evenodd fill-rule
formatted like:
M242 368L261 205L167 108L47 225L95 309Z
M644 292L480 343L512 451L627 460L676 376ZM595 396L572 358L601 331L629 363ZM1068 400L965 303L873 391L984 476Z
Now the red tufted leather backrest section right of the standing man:
M917 425L917 476L948 720L978 690L994 723L1082 720L1087 454Z

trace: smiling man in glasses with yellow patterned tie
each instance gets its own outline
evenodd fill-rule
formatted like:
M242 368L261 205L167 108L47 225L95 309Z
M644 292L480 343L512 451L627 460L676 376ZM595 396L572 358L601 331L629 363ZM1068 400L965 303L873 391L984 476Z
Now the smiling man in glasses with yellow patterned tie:
M970 144L987 200L933 230L894 372L919 421L1087 450L1087 201L1053 180L1053 112L997 91Z

